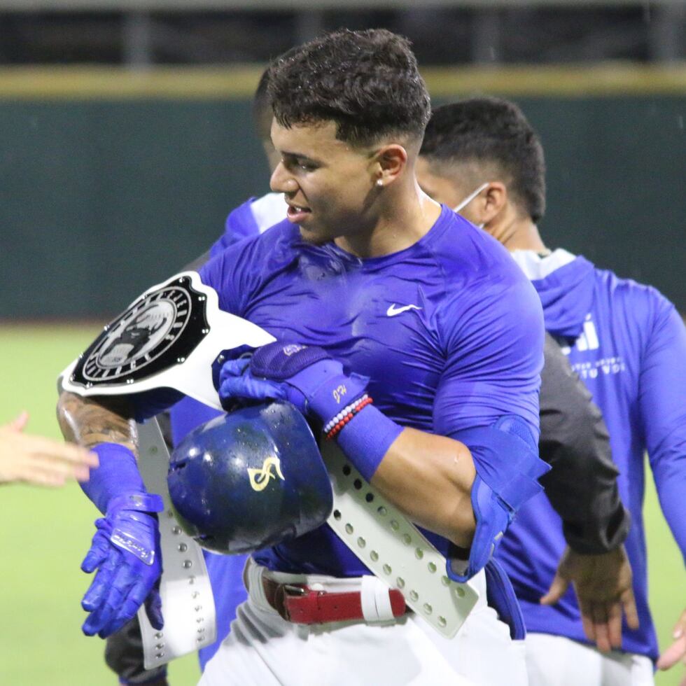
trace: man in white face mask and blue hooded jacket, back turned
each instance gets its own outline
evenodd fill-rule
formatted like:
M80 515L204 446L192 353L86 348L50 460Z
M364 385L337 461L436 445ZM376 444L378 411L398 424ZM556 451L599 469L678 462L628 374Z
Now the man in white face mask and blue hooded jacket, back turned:
M686 333L671 302L654 288L619 279L562 249L549 251L536 226L545 209L542 147L517 106L472 99L438 108L419 162L421 186L482 225L510 251L542 300L545 325L565 347L601 407L631 512L626 538L640 624L617 609L579 608L566 592L573 568L589 579L608 556L566 549L559 517L533 498L510 528L498 558L524 610L532 684L652 683L654 661L668 668L686 654L686 615L659 657L647 605L641 505L643 455L650 459L662 510L686 550ZM561 563L558 566L558 562ZM593 647L597 643L597 650ZM621 646L621 650L618 650ZM608 652L612 647L615 650ZM602 651L602 652L601 652Z

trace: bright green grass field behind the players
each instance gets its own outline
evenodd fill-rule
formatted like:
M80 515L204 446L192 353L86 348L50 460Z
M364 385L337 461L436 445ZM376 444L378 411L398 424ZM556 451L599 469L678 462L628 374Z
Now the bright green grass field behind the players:
M1 325L0 423L22 409L31 413L29 430L57 437L55 379L83 350L97 328ZM649 486L645 521L649 549L650 597L660 645L686 605L684 568ZM5 582L0 598L5 620L0 640L3 686L104 686L116 678L102 659L104 643L80 631L85 613L80 598L88 578L78 569L94 532L97 511L71 484L58 491L5 486L2 489L2 547ZM197 681L197 661L172 664L173 686ZM657 675L659 686L676 686L679 668Z

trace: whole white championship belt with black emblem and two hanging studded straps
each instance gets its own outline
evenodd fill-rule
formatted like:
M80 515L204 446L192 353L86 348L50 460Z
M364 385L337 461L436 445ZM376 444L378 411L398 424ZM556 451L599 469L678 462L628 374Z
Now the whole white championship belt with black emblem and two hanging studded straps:
M146 290L107 325L62 372L62 388L78 395L174 388L222 409L212 381L213 363L222 361L222 351L273 341L258 325L219 309L216 290L205 286L197 272L181 272ZM167 505L160 514L165 629L156 631L139 612L145 666L151 668L214 640L214 600L202 551L193 539L183 538L169 506L169 453L157 423L140 425L139 435L146 486L160 493ZM374 575L400 590L417 615L442 636L454 636L477 602L478 592L469 582L459 584L447 577L444 556L365 482L335 444L325 441L321 451L332 480L328 524L333 531ZM197 573L187 573L193 568ZM194 584L195 589L190 589Z

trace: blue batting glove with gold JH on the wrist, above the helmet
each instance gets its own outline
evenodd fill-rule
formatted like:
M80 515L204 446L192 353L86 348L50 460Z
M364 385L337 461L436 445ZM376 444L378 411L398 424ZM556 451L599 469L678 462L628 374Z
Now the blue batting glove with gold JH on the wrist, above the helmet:
M223 401L288 400L302 414L327 423L360 398L368 382L367 377L345 374L343 365L322 348L275 342L258 348L249 360L226 362L219 395Z

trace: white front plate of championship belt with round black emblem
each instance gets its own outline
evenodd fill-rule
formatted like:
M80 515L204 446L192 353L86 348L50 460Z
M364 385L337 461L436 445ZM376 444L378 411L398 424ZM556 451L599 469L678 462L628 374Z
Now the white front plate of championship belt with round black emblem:
M62 372L62 388L78 395L174 388L222 409L212 382L217 356L273 341L259 326L219 309L216 290L197 272L181 272L146 290L106 325Z

